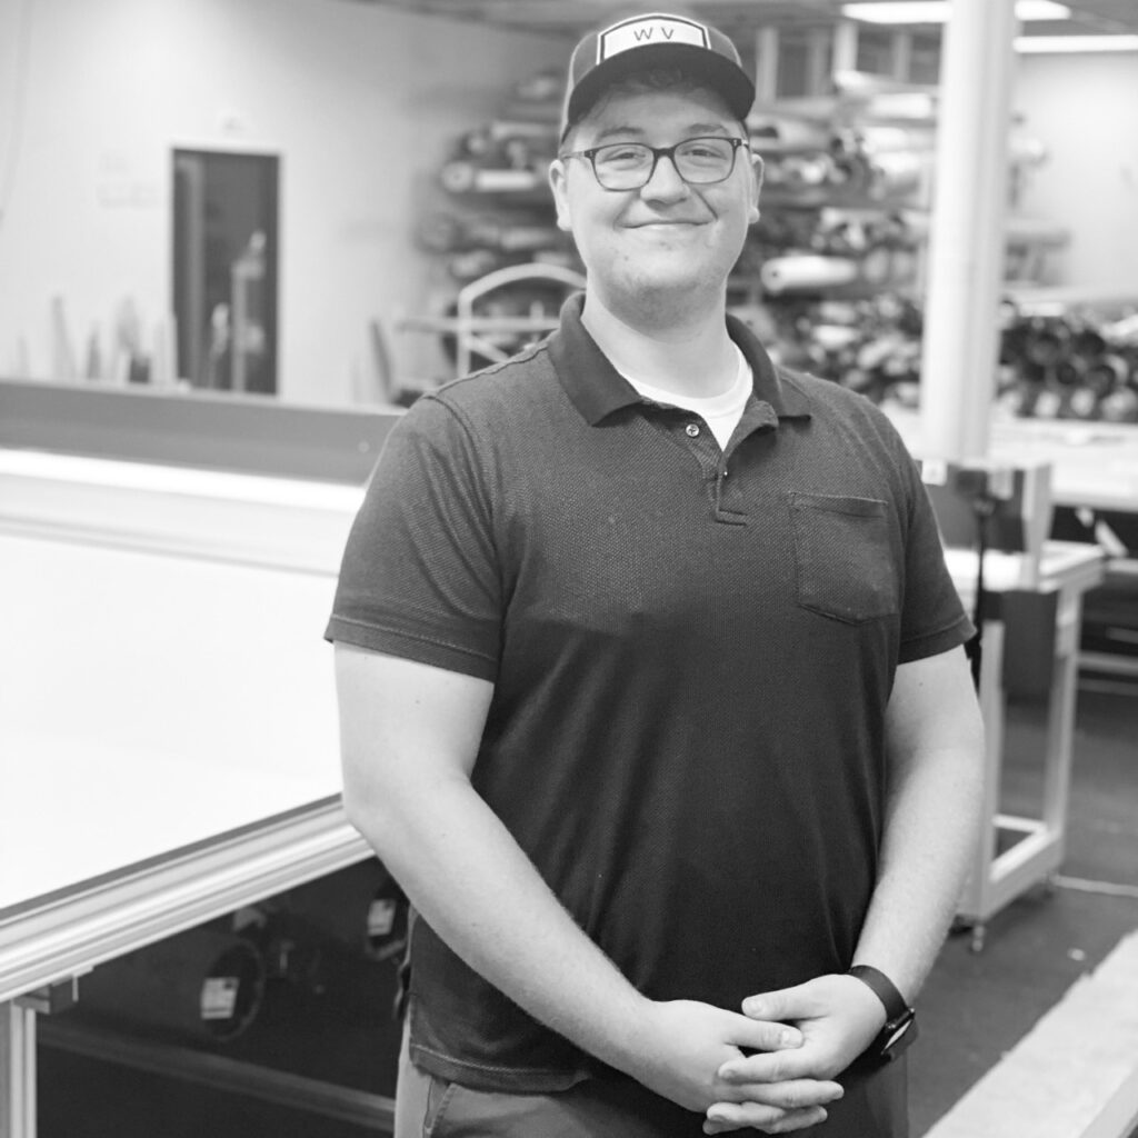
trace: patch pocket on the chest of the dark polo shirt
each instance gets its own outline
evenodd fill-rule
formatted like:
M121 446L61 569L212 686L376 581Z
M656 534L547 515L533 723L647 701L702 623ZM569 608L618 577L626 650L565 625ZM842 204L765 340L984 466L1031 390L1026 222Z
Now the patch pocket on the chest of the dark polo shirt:
M899 611L889 504L834 494L789 495L798 603L846 624Z

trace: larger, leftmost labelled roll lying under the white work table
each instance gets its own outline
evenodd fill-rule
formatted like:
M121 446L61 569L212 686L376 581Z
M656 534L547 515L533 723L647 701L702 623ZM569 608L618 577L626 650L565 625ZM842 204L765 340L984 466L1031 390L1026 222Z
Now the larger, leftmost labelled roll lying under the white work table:
M124 1025L221 1042L253 1023L264 986L253 943L203 927L100 965L81 978L79 1004Z

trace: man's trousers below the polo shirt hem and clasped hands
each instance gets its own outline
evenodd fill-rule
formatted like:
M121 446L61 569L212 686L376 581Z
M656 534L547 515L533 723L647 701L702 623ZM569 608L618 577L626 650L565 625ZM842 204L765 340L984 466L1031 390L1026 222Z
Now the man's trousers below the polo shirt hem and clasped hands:
M905 1057L842 1080L830 1118L809 1138L908 1138ZM703 1115L630 1079L586 1079L553 1095L472 1090L417 1067L404 1034L394 1138L703 1138ZM756 1138L758 1131L735 1131Z

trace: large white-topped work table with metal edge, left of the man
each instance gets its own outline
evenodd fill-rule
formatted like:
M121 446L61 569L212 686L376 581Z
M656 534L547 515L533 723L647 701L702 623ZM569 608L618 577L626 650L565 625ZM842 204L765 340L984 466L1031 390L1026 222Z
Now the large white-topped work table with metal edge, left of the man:
M370 855L321 640L360 497L0 452L0 1138L50 986Z

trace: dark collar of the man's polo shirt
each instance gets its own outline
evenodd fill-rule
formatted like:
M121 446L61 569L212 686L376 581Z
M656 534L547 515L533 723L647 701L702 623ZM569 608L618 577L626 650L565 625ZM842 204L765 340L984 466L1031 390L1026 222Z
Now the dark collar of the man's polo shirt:
M636 389L609 362L582 322L585 295L577 292L561 308L561 325L550 337L550 358L574 406L591 427L620 407L641 402ZM751 365L754 397L768 403L780 419L809 419L810 398L780 378L770 356L740 320L727 316L727 332Z

